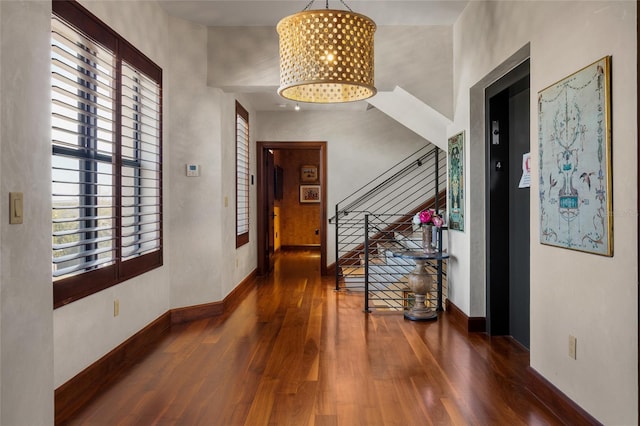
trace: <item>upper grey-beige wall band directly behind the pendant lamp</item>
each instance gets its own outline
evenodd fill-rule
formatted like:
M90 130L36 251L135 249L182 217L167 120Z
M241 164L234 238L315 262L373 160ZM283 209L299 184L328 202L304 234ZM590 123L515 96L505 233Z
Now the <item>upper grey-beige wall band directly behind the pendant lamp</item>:
M280 64L274 27L211 27L208 39L210 86L228 92L263 92L265 96L275 93ZM378 27L375 33L378 92L392 91L400 85L451 117L452 43L450 26Z

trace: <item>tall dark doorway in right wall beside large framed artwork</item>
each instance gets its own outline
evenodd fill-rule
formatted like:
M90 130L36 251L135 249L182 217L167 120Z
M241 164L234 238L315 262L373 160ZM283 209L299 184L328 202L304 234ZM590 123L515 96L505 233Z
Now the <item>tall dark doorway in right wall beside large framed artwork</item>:
M485 92L487 332L530 340L530 198L521 182L530 151L529 60Z

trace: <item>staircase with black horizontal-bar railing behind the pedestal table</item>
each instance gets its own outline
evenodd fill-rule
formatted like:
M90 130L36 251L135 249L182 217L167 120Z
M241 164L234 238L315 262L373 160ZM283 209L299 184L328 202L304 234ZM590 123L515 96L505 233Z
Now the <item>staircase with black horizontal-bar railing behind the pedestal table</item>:
M418 249L422 234L413 216L426 208L444 212L446 156L427 145L336 205L336 290L362 292L365 311L402 310L411 304L406 286L415 263L393 257L392 250ZM446 232L438 233L438 246ZM439 269L438 269L439 268ZM446 280L443 262L427 268ZM439 272L439 275L438 275ZM446 281L441 294L446 294ZM438 305L436 292L428 303Z

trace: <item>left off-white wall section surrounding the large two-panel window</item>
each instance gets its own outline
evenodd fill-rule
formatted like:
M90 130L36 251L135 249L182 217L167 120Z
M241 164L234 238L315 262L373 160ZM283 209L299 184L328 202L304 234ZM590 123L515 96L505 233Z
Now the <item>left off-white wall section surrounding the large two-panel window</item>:
M169 20L166 14L151 2L83 1L82 4L163 68L163 84L170 93L171 74L167 72L166 59ZM166 96L164 104L170 110L171 103L167 102L167 98L169 96ZM171 128L172 120L169 114L165 114L165 159L170 158L166 152L170 140L167 134ZM172 194L167 187L173 179L171 171L167 169L165 166L165 206L170 205ZM45 173L49 174L48 170ZM171 220L166 210L164 245L170 247ZM171 255L165 249L164 266L161 268L53 311L55 387L169 310L171 263ZM115 299L120 301L118 317L113 316Z

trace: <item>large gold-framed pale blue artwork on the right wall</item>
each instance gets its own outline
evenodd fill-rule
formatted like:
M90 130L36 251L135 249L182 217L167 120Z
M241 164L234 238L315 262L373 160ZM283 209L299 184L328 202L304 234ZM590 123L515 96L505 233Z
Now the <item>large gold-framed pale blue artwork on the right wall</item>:
M540 242L613 256L611 57L538 92Z

